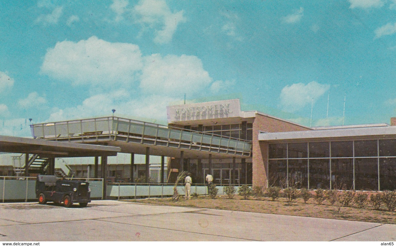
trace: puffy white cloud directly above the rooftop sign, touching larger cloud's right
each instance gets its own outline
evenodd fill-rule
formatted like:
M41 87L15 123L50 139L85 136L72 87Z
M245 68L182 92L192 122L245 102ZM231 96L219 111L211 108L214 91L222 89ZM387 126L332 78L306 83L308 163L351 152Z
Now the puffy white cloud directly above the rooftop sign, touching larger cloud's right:
M145 92L196 93L212 81L196 56L153 54L145 59L140 88Z

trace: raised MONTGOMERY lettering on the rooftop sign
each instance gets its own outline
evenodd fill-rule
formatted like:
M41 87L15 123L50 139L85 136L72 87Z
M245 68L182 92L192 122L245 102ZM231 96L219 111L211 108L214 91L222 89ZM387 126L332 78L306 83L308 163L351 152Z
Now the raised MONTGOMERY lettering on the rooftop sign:
M213 104L207 106L198 106L198 107L187 107L187 108L177 108L175 109L175 117L179 118L191 118L191 117L206 117L207 115L228 115L231 114L230 104Z

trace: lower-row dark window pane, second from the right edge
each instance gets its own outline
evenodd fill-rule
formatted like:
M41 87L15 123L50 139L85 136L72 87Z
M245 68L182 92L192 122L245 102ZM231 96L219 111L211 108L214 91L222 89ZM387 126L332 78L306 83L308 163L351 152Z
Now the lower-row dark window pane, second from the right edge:
M355 159L355 188L356 190L378 190L377 158Z

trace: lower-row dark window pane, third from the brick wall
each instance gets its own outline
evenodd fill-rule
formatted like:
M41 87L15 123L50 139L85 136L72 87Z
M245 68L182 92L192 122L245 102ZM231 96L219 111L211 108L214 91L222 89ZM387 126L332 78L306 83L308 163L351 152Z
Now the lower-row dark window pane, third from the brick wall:
M329 189L330 159L309 159L310 189Z

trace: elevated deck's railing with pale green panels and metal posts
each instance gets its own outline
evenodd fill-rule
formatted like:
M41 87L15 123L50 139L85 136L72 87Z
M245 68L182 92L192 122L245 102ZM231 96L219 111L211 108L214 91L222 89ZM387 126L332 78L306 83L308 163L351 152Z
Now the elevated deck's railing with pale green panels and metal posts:
M250 156L252 148L248 140L119 117L41 123L31 127L34 138L56 141L113 140L242 156Z

